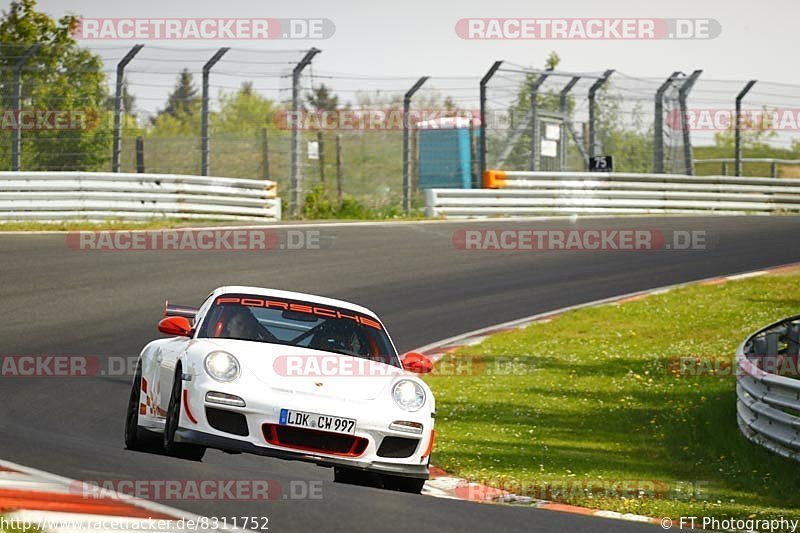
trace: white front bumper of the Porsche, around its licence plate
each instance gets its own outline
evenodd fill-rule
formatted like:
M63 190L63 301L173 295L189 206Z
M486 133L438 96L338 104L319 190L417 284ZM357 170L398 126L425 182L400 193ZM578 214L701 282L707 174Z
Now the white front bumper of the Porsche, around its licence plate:
M369 378L363 378L369 379ZM279 457L283 459L305 461L321 466L338 466L356 470L369 470L398 476L428 478L428 445L432 438L433 415L432 405L417 412L403 411L394 405L389 398L385 402L368 399L342 398L337 394L322 395L281 390L258 382L223 384L211 380L203 374L195 374L189 381L184 381L183 409L178 422L176 440L196 443L209 448L230 452L243 452L256 455ZM236 395L244 399L246 406L220 405L206 398L208 392ZM432 399L431 399L432 401ZM186 408L193 416L186 415ZM312 443L302 444L292 439L283 440L265 435L268 425L280 425L281 409L292 409L307 413L319 413L329 416L355 418L357 426L352 437L366 441L366 446L345 452L316 446ZM217 421L209 418L209 410L221 410L235 413L244 418L239 425L240 432L222 427ZM410 433L391 428L396 420L419 423L421 432ZM212 423L215 422L215 423ZM399 455L399 449L382 449L388 438L416 440L418 442L408 455ZM283 442L280 442L283 441ZM303 444L309 444L304 446ZM397 444L396 442L393 444ZM327 445L327 443L326 443ZM334 451L335 450L335 451ZM398 454L393 454L397 451Z

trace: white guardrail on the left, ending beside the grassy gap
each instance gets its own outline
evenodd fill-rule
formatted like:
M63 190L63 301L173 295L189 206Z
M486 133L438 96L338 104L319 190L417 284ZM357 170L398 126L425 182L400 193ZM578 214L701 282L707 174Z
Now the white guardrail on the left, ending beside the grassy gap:
M275 182L178 174L0 172L0 220L280 220Z

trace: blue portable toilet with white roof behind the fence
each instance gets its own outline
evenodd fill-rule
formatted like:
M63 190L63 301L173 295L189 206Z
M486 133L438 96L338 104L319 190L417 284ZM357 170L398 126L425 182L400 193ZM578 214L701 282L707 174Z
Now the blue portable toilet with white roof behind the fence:
M417 123L419 132L419 188L472 188L473 131L479 119L444 117Z

